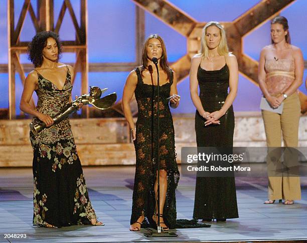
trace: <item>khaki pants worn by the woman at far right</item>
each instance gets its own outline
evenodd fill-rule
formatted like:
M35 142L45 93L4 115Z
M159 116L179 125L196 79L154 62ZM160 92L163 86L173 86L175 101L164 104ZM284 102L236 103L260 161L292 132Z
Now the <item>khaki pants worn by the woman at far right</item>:
M262 110L266 143L268 147L297 147L300 103L297 93L283 101L282 114ZM268 199L300 200L299 177L268 177Z

